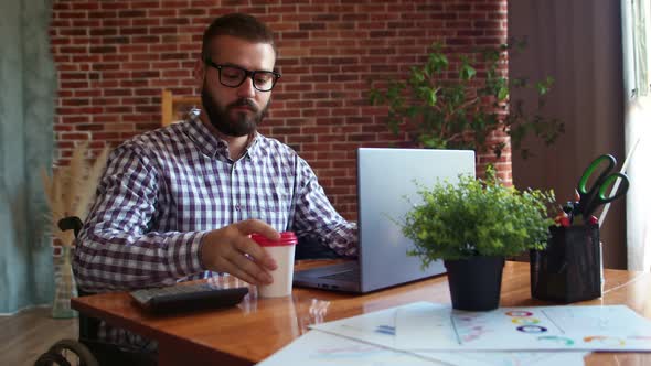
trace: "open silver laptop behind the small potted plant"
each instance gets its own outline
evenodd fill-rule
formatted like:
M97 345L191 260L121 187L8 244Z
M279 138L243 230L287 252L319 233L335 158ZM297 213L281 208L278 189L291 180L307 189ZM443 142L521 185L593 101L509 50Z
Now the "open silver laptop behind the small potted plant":
M370 292L445 272L442 261L420 268L420 258L395 220L420 203L418 184L474 176L474 151L429 149L357 150L359 258L294 273L294 284L345 292ZM412 202L412 203L409 203Z

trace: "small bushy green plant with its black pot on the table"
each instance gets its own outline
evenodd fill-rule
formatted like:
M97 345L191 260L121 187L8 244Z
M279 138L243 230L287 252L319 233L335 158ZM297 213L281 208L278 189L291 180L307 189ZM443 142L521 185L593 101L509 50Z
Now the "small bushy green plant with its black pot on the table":
M456 184L421 186L423 203L398 224L414 241L408 255L423 266L442 259L452 305L459 310L491 310L499 305L504 258L544 249L553 191L502 185L494 169L485 180L459 176Z

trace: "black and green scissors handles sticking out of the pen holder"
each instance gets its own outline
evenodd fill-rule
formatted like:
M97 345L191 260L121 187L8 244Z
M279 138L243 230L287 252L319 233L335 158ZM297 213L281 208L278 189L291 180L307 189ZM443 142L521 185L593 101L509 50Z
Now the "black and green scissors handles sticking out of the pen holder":
M606 162L607 166L601 171L601 174L595 180L593 186L589 189L586 186L588 180L599 165ZM587 218L602 204L609 203L615 201L629 189L629 179L623 173L611 173L617 165L617 160L615 157L610 154L602 154L597 159L593 160L590 165L584 171L580 180L578 181L577 191L580 194L580 200L578 202L578 213L583 215L583 217ZM610 190L610 186L617 182L618 179L621 179L621 184L617 187L617 192L615 194L608 194L607 191Z

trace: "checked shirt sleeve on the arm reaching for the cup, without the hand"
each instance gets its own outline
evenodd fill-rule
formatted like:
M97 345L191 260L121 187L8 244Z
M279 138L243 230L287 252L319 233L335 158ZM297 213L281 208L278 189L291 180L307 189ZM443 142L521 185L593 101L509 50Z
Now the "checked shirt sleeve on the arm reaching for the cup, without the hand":
M125 144L111 153L75 250L75 276L84 290L172 284L202 270L205 233L149 230L158 174L138 147Z

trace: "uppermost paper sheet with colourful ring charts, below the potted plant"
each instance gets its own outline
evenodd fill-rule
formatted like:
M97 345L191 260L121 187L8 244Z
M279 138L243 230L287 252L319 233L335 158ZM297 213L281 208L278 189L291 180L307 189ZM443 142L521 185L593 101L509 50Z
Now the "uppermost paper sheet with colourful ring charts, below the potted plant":
M500 308L488 312L396 312L396 347L448 348L449 329L423 326L450 317L459 349L651 352L651 322L625 305ZM440 341L439 341L440 340Z

